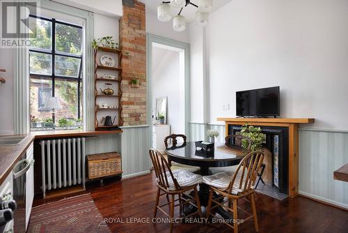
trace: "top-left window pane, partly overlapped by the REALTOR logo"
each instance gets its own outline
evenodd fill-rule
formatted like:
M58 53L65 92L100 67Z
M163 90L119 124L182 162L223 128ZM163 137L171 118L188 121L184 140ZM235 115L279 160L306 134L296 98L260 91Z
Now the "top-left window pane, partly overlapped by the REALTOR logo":
M52 22L29 17L31 36L31 48L52 50Z

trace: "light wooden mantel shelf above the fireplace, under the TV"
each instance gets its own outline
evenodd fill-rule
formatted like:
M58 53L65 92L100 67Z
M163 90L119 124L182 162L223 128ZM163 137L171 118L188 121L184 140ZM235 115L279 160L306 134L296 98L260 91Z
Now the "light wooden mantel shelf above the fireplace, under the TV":
M314 123L314 118L221 118L218 121L228 122L260 122L260 123Z

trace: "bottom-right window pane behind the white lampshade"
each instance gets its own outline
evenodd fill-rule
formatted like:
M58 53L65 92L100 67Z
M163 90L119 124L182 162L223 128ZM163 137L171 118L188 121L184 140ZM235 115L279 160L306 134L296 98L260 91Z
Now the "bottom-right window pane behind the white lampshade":
M56 123L59 124L60 119L74 120L78 118L78 83L77 81L56 80L54 93L58 98L60 110L56 111ZM80 98L81 106L81 98ZM81 111L82 112L82 111ZM62 123L63 122L63 123ZM61 125L66 121L61 121Z

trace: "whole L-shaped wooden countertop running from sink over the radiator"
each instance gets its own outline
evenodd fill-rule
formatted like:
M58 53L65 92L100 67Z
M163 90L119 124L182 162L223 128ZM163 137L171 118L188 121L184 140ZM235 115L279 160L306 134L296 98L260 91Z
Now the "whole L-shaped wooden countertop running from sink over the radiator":
M4 135L0 140L6 137L24 136L20 144L0 145L0 184L12 172L15 164L22 158L31 142L35 139L59 138L59 137L88 137L97 135L109 135L122 133L122 130L103 130L103 131L85 131L85 130L61 130L61 131L42 131L32 132L27 135Z

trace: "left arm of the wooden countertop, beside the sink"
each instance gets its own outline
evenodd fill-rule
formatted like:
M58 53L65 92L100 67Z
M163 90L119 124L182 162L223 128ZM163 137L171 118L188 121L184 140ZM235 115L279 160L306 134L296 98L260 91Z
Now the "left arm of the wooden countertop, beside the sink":
M13 135L11 135L13 137ZM11 137L0 136L0 139ZM21 135L16 135L21 136ZM6 177L12 172L15 164L21 160L23 154L26 152L34 137L32 135L22 135L24 139L20 144L16 145L1 145L0 146L0 184L5 181Z

